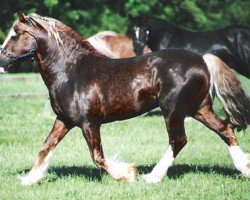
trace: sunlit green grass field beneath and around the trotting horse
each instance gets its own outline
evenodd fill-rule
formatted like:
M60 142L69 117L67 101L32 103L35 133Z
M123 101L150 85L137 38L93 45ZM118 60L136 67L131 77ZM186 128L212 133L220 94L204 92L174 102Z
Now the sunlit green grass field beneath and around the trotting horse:
M250 199L250 179L234 169L222 140L195 121L185 123L188 144L160 184L113 180L92 163L80 129L74 129L58 145L46 177L34 186L20 186L17 177L32 167L54 118L44 115L47 91L41 79L28 76L35 78L0 77L1 200ZM250 81L241 80L250 91ZM220 106L216 108L219 111ZM152 170L168 146L165 124L158 115L105 124L101 132L105 155L135 163L139 175ZM250 153L250 128L237 137Z

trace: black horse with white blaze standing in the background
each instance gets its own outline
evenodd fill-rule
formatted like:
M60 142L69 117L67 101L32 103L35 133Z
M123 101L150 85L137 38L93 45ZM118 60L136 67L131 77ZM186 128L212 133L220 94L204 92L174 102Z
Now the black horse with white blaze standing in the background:
M181 48L202 55L211 53L250 78L249 27L235 25L198 32L180 28L163 19L138 15L129 17L128 35L133 39L136 55L142 54L145 45L152 51Z

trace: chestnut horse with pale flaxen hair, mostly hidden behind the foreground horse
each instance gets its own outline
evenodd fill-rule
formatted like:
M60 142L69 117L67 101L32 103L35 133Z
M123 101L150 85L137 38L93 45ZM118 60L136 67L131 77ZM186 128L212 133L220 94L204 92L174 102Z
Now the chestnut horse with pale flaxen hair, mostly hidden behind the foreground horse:
M101 54L110 58L134 57L134 46L132 39L126 35L113 31L102 31L91 36L87 41ZM147 46L143 48L143 53L151 52Z

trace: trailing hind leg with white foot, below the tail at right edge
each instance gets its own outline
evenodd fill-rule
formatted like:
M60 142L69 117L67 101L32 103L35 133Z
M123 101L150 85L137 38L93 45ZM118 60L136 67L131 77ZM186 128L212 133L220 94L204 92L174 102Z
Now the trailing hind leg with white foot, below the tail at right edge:
M249 156L241 150L231 124L224 122L216 116L209 96L203 101L194 118L216 132L224 140L229 147L229 152L236 169L241 171L244 176L250 177Z

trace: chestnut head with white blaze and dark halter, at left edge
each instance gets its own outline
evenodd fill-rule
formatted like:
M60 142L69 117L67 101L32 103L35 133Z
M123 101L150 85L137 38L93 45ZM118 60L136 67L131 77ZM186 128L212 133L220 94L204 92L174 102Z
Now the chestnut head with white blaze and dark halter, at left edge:
M34 57L36 40L28 27L29 22L20 12L19 19L13 24L0 48L0 69L2 73L16 61L25 61Z

